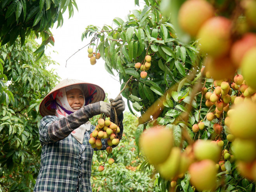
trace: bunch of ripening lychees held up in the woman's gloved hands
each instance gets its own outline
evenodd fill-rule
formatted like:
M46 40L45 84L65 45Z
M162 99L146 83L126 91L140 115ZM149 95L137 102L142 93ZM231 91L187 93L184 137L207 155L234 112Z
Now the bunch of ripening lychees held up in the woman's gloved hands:
M92 148L97 147L97 149L102 148L102 139L106 139L108 146L107 147L107 154L109 155L112 153L112 145L119 144L118 133L120 132L119 126L115 123L111 122L110 120L105 120L105 116L98 120L98 125L96 125L95 130L90 134L89 143L91 144ZM106 160L107 161L107 160ZM114 159L110 158L108 160L109 165L114 163ZM105 165L105 163L104 163ZM99 166L99 171L104 170L104 165Z

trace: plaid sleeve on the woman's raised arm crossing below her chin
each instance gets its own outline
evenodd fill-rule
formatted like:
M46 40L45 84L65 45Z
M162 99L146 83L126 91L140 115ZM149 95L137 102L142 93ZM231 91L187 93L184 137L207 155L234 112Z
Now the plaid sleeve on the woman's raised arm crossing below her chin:
M88 122L89 118L100 114L100 104L92 103L84 106L67 117L45 116L39 126L40 142L56 142L66 138L71 132Z

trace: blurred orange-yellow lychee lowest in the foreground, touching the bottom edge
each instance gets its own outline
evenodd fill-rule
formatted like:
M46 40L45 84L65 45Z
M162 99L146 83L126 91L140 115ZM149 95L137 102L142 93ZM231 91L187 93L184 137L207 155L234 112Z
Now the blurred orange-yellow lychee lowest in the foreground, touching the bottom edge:
M205 159L189 166L190 182L197 190L213 190L216 185L216 166L214 161Z

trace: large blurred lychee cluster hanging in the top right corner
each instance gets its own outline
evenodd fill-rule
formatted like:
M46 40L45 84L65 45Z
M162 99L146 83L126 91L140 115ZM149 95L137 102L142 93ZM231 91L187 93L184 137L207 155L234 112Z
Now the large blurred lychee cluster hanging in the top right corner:
M183 31L199 39L198 49L207 53L203 63L207 78L230 79L241 69L248 86L256 89L256 16L252 14L256 2L241 0L236 4L246 19L219 16L206 0L187 0L179 10L178 23Z

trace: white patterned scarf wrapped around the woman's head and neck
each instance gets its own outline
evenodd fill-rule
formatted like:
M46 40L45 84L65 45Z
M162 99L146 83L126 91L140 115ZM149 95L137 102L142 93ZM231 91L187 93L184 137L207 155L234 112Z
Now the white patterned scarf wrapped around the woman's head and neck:
M81 89L81 86L79 84L76 85L72 85L72 86L68 86L68 87L64 87L59 89L57 95L56 95L56 102L61 105L63 108L65 108L68 111L72 111L74 112L75 110L73 110L71 108L71 106L69 106L69 103L67 101L67 96L66 96L66 91L69 91L71 89L80 89L83 93L83 90ZM85 98L85 96L84 96ZM63 118L66 117L68 114L62 110L62 108L58 105L57 109L55 111L55 115L59 118ZM85 102L83 103L83 106L85 106ZM91 123L88 121L85 124L81 125L80 127L78 127L77 129L73 130L71 132L71 135L81 144L83 144L83 137L85 134L85 131L89 131L91 127Z

